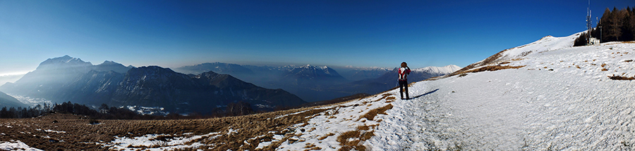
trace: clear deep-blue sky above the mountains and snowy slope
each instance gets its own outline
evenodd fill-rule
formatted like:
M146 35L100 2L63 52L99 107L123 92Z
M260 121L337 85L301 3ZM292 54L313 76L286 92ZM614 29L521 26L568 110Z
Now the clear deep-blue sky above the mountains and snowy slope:
M591 5L595 18L635 3ZM162 67L464 67L547 35L581 32L586 8L586 0L0 0L0 74L35 70L63 55Z

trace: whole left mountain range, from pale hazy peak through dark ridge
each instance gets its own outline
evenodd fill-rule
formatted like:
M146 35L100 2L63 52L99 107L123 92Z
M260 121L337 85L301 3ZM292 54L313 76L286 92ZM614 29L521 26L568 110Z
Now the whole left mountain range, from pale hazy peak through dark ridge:
M168 112L204 113L238 101L257 110L306 103L282 89L258 87L227 74L181 74L169 68L125 67L112 61L92 65L68 55L45 60L35 71L0 90L54 103L139 105L164 107Z

